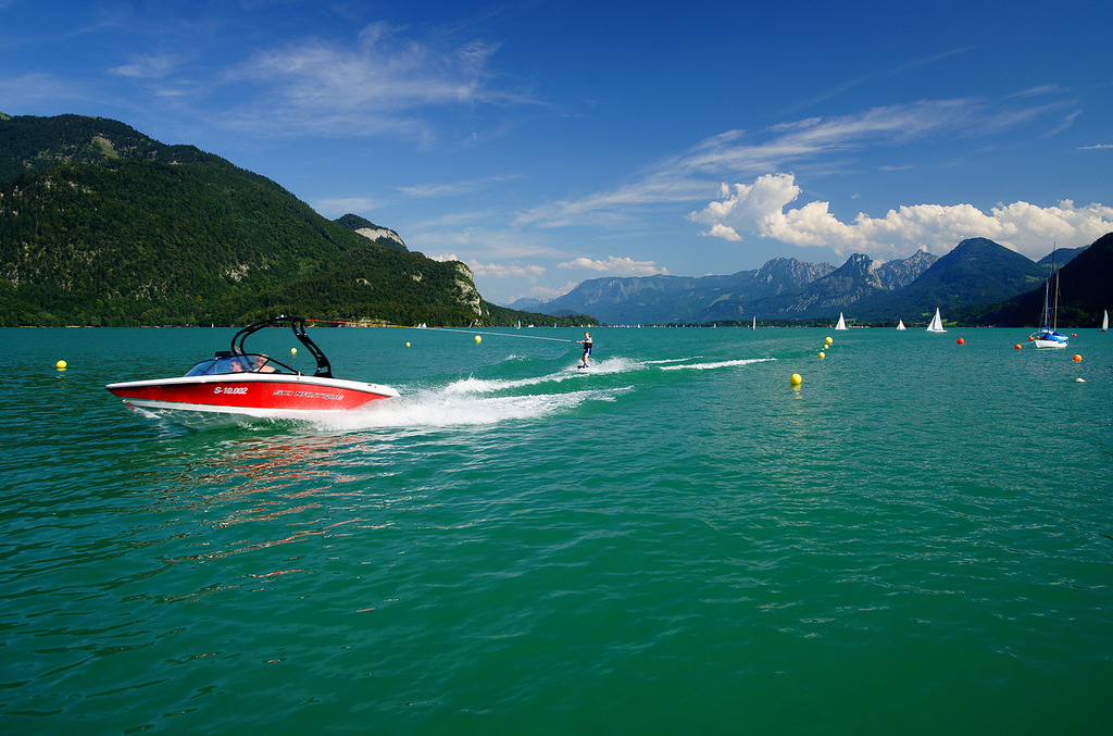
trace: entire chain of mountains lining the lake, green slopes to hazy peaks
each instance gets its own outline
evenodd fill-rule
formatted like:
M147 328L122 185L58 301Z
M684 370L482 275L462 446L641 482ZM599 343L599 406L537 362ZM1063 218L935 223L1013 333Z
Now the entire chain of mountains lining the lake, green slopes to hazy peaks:
M1055 252L1064 320L1083 325L1109 308L1111 248L1113 234ZM855 254L836 268L778 257L727 276L595 278L509 308L486 302L463 263L426 258L356 215L326 219L194 146L104 118L0 114L0 326L244 324L282 313L476 326L834 321L839 312L915 323L936 307L954 321L1026 325L1051 258L1033 263L969 238L939 258Z

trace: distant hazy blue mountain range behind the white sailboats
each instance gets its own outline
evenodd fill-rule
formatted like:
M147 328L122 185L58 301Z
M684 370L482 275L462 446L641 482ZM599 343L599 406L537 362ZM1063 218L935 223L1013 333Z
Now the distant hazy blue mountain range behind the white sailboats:
M1094 244L1102 244L1097 253L1105 247L1103 241ZM1055 266L1070 274L1070 262L1094 245L1055 251ZM1095 258L1094 263L1102 262ZM839 312L851 323L916 323L926 322L939 307L954 320L1020 325L1032 324L1038 311L1022 314L1020 308L996 307L1027 304L1016 300L1031 291L1042 294L1051 272L1051 254L1036 263L988 238L975 237L942 257L920 249L908 258L881 263L854 254L838 268L778 257L730 276L592 278L550 302L520 300L512 306L548 314L584 312L609 324L742 323L755 317L834 322ZM1106 279L1113 277L1107 267L1104 274ZM1080 288L1065 293L1062 314L1074 314L1080 324L1096 320L1101 295L1110 294L1107 281L1095 283L1093 295L1090 286L1081 287L1089 279L1076 283Z

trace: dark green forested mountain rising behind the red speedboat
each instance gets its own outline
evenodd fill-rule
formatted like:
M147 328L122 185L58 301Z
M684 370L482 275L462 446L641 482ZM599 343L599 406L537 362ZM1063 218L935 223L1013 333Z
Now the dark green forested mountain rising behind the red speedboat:
M552 321L487 304L464 264L372 227L116 120L0 119L0 326Z

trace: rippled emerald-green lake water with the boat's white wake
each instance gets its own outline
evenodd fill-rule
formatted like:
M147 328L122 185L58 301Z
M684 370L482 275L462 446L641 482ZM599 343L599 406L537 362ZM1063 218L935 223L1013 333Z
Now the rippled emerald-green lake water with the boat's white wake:
M321 330L403 396L200 431L102 387L233 332L0 331L3 733L1113 722L1109 333Z

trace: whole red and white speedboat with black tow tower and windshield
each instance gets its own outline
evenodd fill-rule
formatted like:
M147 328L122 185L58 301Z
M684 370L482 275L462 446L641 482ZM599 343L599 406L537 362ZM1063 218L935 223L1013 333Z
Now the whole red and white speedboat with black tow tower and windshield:
M317 361L313 375L244 347L248 336L264 327L289 327ZM244 327L232 338L230 351L194 365L183 376L126 381L105 386L132 408L174 419L296 419L311 413L358 409L398 392L390 386L334 379L324 352L305 333L304 317L274 317ZM187 421L187 423L191 423Z

